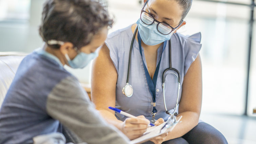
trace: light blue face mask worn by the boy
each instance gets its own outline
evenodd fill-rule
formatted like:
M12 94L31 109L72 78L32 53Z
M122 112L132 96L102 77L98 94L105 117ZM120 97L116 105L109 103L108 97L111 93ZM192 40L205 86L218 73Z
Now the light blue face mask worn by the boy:
M91 62L91 60L93 60L97 56L98 56L97 52L94 52L91 54L80 52L73 60L71 60L68 57L68 55L65 54L68 65L72 68L84 68L86 65L88 65Z

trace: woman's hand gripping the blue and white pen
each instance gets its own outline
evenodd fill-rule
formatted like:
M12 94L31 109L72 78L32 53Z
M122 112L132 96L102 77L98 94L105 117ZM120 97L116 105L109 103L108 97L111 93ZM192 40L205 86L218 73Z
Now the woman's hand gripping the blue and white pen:
M126 118L122 124L121 131L130 139L133 140L143 135L147 130L150 121L144 116L136 118Z

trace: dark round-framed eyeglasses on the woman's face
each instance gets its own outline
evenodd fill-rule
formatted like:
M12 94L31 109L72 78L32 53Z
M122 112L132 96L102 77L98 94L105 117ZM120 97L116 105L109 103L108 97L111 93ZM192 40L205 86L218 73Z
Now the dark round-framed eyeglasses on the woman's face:
M180 24L177 27L173 28L171 25L169 25L166 22L159 22L159 21L157 21L154 18L153 14L143 10L145 5L147 4L147 1L145 2L144 6L142 7L141 14L140 14L140 20L144 24L151 25L154 22L157 22L157 27L156 28L157 28L158 32L163 34L163 35L168 35L168 34L172 33L177 27L179 27L182 24L183 20L180 22Z

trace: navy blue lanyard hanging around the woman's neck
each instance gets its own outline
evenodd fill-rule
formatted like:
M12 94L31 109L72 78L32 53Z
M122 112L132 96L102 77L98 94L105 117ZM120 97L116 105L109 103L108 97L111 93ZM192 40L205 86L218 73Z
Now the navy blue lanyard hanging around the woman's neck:
M142 61L143 61L142 50L141 50L141 37L140 37L139 31L138 31L138 42L139 42L140 55L141 55L141 58L142 58ZM167 41L164 41L164 43L163 43L163 51L165 49L166 43L167 43ZM163 51L162 51L162 54L163 54ZM145 75L146 75L146 79L147 79L147 84L149 85L150 93L151 93L151 96L152 96L152 99L153 99L153 102L154 102L152 113L156 113L157 112L156 104L155 104L156 103L156 81L157 81L159 67L160 67L160 63L161 63L161 59L162 59L162 54L161 54L160 60L159 60L159 62L157 64L157 67L156 67L153 79L151 79L151 77L149 75L149 71L147 71L147 67L146 67L146 65L145 65L145 63L143 61L143 67L144 67L144 71L145 71Z

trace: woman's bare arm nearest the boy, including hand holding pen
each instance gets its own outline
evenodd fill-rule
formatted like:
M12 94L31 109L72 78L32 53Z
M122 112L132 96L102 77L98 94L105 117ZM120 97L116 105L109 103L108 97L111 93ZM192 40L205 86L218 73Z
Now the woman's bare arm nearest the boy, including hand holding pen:
M116 105L117 77L116 68L110 58L109 48L104 44L92 66L92 102L108 123L116 126L132 140L145 132L150 121L144 116L139 116L127 118L122 122L115 117L115 112L108 108Z

